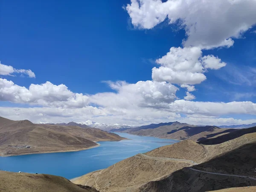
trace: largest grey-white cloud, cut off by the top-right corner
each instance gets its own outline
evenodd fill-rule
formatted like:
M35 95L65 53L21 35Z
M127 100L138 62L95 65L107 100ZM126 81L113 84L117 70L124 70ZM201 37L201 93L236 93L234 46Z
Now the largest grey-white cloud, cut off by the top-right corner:
M151 29L168 18L185 29L186 47L231 47L232 38L256 23L255 0L131 0L126 6L135 27Z

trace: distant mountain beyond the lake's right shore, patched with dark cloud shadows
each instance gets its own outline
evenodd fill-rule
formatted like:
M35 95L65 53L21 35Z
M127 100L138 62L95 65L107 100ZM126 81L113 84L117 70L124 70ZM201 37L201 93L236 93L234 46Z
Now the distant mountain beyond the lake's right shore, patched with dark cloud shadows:
M227 134L234 130L235 129L224 129L215 126L195 126L180 122L168 122L145 125L137 128L112 129L111 131L173 140L190 139L199 141L214 137L218 134Z

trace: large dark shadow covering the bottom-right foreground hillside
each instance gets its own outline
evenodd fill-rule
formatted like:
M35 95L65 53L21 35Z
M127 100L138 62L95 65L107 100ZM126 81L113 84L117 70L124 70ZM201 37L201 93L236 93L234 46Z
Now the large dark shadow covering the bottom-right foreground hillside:
M250 143L193 168L256 178L255 166L256 143ZM256 180L203 173L186 167L145 184L140 187L140 192L205 192L243 186L256 186Z

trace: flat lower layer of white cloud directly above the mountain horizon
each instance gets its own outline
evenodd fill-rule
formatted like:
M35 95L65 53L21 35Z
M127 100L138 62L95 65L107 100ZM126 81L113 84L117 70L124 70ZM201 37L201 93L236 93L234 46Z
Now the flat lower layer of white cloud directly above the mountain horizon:
M107 108L87 106L84 108L11 108L0 107L0 116L9 119L29 119L32 122L81 122L91 119L101 123L119 123L129 125L145 125L160 122L186 122L192 125L239 125L256 122L256 119L218 118L200 114L181 117L179 114L152 108L122 109L122 113Z

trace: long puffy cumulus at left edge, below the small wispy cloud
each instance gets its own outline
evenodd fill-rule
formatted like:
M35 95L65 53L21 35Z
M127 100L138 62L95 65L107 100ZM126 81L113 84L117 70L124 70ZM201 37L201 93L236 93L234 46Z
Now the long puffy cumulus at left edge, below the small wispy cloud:
M14 84L7 79L0 79L0 101L28 103L53 107L81 108L88 105L88 97L73 93L64 84L31 84L29 89Z

